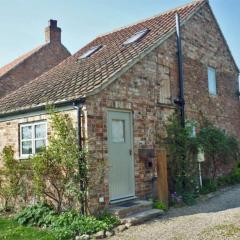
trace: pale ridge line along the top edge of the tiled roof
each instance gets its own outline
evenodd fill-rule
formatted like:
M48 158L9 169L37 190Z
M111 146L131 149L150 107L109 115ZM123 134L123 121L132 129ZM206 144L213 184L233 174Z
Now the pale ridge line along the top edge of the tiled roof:
M169 10L166 10L166 11L164 11L164 12L162 12L162 13L159 13L159 14L156 14L156 15L154 15L154 16L151 16L151 17L148 17L148 18L145 18L145 19L142 19L142 20L138 20L138 21L136 21L136 22L134 22L134 23L131 23L131 24L129 24L129 25L125 25L125 26L123 26L123 27L115 28L115 29L113 29L112 31L109 31L109 32L106 32L106 33L103 33L103 34L99 34L99 35L97 35L97 36L95 37L95 39L97 39L97 38L99 38L99 37L107 36L108 34L115 33L115 32L121 31L121 30L126 29L126 28L129 28L129 27L133 27L133 26L135 26L135 25L137 25L137 24L139 24L139 23L144 23L144 22L146 22L146 21L148 21L148 20L151 20L151 19L160 17L160 16L162 16L162 15L164 15L164 14L168 14L168 13L174 12L174 11L176 11L176 10L180 10L180 9L185 8L185 7L187 7L187 6L190 6L190 5L197 4L197 3L199 3L199 2L204 3L204 2L209 2L209 0L192 0L191 2L186 3L186 4L183 4L183 5L179 6L179 7L171 8L171 9L169 9Z

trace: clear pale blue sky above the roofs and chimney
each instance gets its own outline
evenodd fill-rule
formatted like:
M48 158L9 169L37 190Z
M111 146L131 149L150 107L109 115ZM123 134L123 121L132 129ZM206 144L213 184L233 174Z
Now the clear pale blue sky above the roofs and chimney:
M57 19L62 42L76 52L95 36L189 0L0 0L0 66L44 42L43 29ZM210 0L240 66L240 1Z

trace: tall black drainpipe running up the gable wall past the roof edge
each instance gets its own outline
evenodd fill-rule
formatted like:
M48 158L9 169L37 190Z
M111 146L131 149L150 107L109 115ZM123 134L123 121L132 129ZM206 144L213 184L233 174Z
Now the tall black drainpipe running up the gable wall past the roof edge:
M180 109L180 123L185 127L185 100L184 100L184 73L183 73L183 56L182 56L182 41L180 16L176 14L176 33L177 33L177 54L178 54L178 79L179 79L179 97L174 100Z

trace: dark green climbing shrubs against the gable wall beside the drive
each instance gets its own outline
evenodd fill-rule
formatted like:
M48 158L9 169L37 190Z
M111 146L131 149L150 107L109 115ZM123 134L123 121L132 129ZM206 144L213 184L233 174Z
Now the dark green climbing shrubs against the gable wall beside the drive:
M180 126L175 114L166 126L170 191L179 194L194 192L198 185L197 153L200 148L205 153L206 160L202 164L207 169L203 174L205 178L210 175L215 180L224 165L234 166L239 160L239 142L234 136L205 118L195 137L192 136L194 123L186 122L185 125L185 128Z

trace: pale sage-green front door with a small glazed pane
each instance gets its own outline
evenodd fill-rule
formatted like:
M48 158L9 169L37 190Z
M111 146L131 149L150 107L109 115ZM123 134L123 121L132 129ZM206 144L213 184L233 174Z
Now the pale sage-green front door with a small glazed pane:
M108 111L107 128L110 201L134 197L131 112Z

